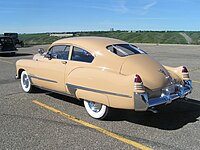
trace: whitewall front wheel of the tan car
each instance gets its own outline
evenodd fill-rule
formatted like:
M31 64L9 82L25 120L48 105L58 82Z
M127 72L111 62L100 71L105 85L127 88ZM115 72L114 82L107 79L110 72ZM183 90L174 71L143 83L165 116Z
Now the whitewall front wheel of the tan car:
M23 71L21 74L21 86L24 92L27 92L27 93L32 92L33 87L31 85L30 78L26 71Z

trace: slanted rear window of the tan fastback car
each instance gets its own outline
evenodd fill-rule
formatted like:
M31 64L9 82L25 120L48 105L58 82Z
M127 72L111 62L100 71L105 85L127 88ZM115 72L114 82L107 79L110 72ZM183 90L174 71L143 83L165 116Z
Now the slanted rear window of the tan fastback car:
M145 54L145 52L134 45L131 44L113 44L107 46L107 49L121 57L135 55L135 54Z

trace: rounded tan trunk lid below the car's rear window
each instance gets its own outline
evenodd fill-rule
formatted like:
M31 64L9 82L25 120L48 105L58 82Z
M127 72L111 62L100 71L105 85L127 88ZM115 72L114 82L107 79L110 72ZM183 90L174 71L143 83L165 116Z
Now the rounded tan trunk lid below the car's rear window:
M140 75L144 86L152 91L162 89L171 83L168 71L146 54L128 56L122 65L120 73L124 75Z

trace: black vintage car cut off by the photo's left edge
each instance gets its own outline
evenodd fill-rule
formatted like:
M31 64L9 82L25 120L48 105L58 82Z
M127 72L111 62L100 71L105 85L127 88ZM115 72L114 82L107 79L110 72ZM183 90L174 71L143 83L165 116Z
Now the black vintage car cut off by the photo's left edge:
M0 54L15 55L17 48L10 37L0 36Z

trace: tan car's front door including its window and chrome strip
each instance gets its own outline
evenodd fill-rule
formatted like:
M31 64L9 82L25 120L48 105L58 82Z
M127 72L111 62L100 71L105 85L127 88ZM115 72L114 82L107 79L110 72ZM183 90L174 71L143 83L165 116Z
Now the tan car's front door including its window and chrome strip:
M54 45L48 53L36 61L31 80L34 84L59 92L65 92L64 74L70 45Z

